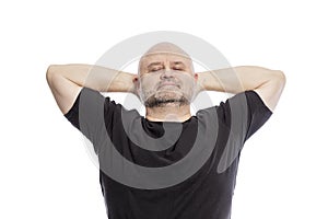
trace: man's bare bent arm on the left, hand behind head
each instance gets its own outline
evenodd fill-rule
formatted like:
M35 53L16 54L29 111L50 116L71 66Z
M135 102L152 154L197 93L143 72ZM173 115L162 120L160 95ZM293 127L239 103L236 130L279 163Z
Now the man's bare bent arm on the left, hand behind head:
M71 108L83 87L99 92L136 93L136 77L91 65L51 65L47 70L47 82L63 114Z

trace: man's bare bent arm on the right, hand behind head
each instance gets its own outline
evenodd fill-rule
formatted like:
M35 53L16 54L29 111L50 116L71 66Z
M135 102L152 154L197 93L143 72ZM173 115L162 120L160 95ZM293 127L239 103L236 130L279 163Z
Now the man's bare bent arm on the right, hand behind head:
M198 73L199 91L239 93L254 90L273 112L285 84L282 71L241 66Z

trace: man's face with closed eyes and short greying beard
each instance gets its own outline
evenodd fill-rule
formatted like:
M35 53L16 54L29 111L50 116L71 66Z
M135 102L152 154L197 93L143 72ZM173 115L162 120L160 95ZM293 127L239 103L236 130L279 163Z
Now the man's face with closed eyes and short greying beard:
M192 61L185 55L152 53L140 60L139 90L147 107L190 104L196 81Z

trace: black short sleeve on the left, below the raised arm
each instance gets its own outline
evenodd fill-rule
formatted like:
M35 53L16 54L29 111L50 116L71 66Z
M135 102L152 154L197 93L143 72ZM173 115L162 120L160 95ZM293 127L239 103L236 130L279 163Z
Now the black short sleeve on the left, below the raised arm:
M83 88L65 117L93 143L98 154L102 142L108 138L107 129L113 128L116 111L117 104L109 97Z

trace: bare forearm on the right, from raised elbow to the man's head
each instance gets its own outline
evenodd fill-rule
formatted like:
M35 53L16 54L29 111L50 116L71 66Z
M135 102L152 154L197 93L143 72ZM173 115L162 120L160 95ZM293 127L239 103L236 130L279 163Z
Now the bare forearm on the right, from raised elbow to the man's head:
M278 70L270 70L256 66L239 66L198 73L200 91L219 91L239 93L256 90L268 83L276 83L283 78Z

